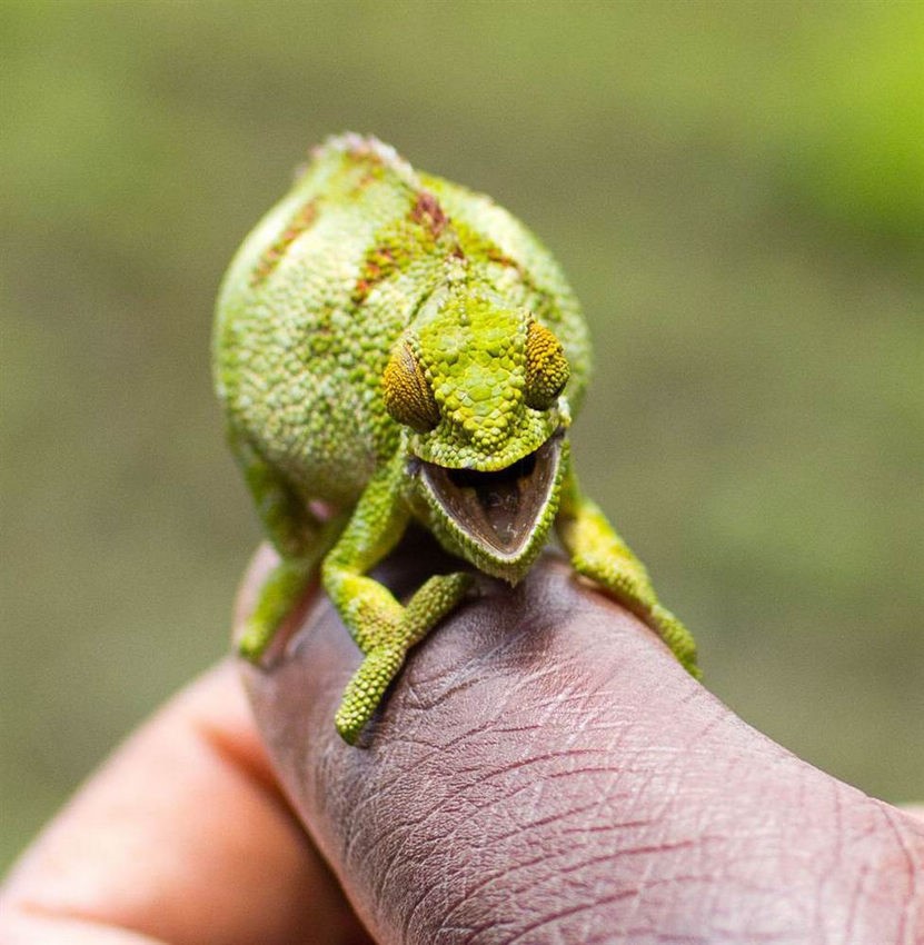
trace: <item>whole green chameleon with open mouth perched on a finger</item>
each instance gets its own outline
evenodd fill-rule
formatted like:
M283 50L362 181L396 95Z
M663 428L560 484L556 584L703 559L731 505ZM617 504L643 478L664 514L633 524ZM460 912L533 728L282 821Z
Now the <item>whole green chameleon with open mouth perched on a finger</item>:
M574 569L696 675L692 636L575 478L567 430L589 361L572 289L506 210L375 138L318 148L218 300L218 396L280 555L240 653L260 657L320 565L365 654L336 716L352 744L409 647L473 584L435 575L403 605L368 577L408 523L509 584L554 524Z

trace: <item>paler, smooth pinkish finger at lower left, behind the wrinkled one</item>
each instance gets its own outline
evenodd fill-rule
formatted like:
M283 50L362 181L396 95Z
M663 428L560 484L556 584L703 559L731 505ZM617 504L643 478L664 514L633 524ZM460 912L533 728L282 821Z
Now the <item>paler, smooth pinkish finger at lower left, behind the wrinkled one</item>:
M77 794L0 895L0 942L368 942L284 799L230 662Z

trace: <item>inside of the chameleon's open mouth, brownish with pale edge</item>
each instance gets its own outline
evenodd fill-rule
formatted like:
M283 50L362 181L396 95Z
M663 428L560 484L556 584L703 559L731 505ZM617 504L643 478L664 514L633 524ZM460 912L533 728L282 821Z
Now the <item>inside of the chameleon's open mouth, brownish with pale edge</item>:
M552 497L562 437L494 472L448 469L421 462L420 475L436 501L461 531L485 550L516 560Z

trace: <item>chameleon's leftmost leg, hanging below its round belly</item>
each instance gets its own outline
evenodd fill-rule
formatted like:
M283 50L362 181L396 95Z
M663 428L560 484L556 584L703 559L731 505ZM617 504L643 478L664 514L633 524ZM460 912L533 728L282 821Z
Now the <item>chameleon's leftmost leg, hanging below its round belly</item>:
M298 603L340 524L337 520L324 523L314 516L305 500L245 436L231 430L229 440L280 558L264 579L238 640L238 653L256 663Z

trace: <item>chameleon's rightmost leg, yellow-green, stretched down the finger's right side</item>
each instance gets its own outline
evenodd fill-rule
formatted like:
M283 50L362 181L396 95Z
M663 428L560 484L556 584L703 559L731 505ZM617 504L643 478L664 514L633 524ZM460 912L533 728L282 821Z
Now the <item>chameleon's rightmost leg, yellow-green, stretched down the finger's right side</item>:
M693 635L660 605L645 565L616 534L596 503L582 494L573 468L565 472L562 484L556 528L574 569L603 585L657 630L684 668L699 678Z

